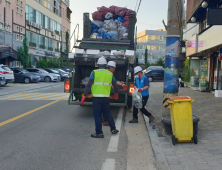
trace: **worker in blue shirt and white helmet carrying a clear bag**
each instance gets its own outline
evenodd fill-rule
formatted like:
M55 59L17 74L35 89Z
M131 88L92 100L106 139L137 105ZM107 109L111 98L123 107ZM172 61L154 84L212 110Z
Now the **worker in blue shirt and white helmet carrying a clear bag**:
M149 88L150 88L150 82L149 79L143 75L142 68L140 66L137 66L134 68L134 74L137 75L135 79L134 88L138 89L138 92L141 92L142 94L142 103L143 107L140 109L140 111L146 115L149 118L149 123L152 123L154 120L154 117L150 112L148 112L145 109L145 106L147 104L147 101L149 99ZM129 121L129 123L138 123L138 109L134 106L133 107L133 119Z

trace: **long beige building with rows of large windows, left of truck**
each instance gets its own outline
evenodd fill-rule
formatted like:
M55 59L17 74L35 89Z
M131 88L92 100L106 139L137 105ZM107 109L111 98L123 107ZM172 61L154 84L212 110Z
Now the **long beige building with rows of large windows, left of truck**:
M33 62L45 56L59 57L60 49L65 51L71 13L69 0L26 1L26 36Z

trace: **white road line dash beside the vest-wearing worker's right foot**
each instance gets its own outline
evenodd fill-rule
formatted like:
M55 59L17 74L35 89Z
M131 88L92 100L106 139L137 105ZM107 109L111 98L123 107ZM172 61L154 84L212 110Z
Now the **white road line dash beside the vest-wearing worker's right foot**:
M123 107L119 109L118 117L116 119L116 129L119 130L119 133L111 136L107 152L116 152L118 150L119 134L122 124L122 118L123 118Z

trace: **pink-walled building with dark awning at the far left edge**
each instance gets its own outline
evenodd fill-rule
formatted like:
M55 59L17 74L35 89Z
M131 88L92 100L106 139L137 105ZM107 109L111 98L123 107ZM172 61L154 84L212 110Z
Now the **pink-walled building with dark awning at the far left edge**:
M0 64L17 60L17 49L25 37L26 0L0 0Z

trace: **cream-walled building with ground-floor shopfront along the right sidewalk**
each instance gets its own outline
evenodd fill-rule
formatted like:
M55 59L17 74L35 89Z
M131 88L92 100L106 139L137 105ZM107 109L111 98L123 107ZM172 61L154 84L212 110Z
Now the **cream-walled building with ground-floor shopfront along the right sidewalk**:
M211 8L222 8L222 2L187 1L186 23L193 23L187 29L190 33L186 41L186 56L191 60L190 83L201 91L207 87L222 90L222 26L207 24L207 10Z

